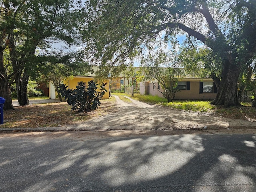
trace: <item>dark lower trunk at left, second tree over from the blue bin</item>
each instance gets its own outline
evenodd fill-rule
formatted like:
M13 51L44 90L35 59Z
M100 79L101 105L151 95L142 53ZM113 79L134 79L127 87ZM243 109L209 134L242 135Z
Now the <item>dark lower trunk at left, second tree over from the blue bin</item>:
M28 105L28 95L27 95L27 88L28 88L28 74L26 69L22 74L22 70L20 70L18 78L16 78L16 89L17 89L17 98L20 105Z

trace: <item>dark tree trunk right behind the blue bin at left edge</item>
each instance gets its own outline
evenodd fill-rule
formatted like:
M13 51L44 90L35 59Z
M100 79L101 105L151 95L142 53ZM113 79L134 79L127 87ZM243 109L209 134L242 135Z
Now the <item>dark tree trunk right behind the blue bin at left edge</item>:
M6 74L6 70L4 68L4 61L3 61L3 51L4 49L0 48L0 96L5 98L5 102L4 102L4 110L8 110L8 109L13 109L13 105L12 105L12 92L11 92L11 88L9 85L9 79L8 76Z

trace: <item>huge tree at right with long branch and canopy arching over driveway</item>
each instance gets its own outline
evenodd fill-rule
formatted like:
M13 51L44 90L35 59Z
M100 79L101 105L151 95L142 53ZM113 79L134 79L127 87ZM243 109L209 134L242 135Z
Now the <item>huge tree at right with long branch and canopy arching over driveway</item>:
M221 0L90 1L87 34L90 58L101 66L118 65L152 49L158 38L172 42L185 34L221 58L221 75L212 78L218 94L212 104L236 106L242 66L256 54L256 2Z

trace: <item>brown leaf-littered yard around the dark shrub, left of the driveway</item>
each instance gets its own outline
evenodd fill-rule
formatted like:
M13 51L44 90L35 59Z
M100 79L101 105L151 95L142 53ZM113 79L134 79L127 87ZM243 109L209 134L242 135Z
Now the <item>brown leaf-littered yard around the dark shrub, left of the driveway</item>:
M72 126L88 119L104 116L116 110L116 99L100 100L101 105L92 112L71 111L67 102L17 106L15 110L4 111L3 128L36 128Z

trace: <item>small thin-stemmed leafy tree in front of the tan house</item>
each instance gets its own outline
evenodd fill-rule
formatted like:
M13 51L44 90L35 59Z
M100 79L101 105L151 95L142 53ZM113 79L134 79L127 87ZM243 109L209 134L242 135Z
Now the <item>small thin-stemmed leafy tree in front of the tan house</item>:
M162 51L155 54L149 54L149 56L142 60L144 64L145 77L150 79L154 84L153 80L157 80L160 83L163 92L155 88L163 94L163 96L171 102L176 92L178 78L182 77L184 72L182 68L178 68L178 59L174 57L174 53L164 53Z

